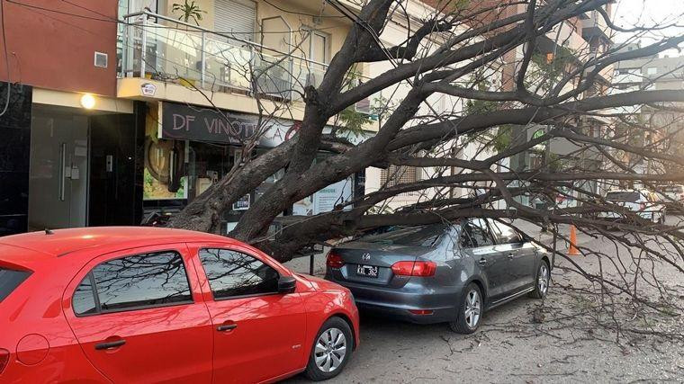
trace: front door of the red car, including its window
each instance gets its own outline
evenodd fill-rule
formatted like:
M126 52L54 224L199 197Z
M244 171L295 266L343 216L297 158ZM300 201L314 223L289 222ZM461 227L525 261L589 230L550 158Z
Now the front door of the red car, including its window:
M306 316L299 293L278 293L280 265L247 247L191 245L211 314L213 381L274 380L300 371Z

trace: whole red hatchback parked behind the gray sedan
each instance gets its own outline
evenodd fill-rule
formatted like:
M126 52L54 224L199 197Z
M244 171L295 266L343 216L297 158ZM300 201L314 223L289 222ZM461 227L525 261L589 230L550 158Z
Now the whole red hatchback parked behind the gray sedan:
M325 380L351 293L227 237L76 228L0 237L0 382Z

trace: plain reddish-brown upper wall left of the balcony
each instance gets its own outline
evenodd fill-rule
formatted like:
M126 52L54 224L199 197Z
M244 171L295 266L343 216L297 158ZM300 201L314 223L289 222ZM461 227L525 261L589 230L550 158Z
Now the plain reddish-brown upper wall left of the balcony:
M117 24L112 21L117 17L117 0L0 1L4 7L13 83L61 91L116 94ZM0 79L7 81L2 46L0 40ZM108 54L108 67L94 67L95 50Z

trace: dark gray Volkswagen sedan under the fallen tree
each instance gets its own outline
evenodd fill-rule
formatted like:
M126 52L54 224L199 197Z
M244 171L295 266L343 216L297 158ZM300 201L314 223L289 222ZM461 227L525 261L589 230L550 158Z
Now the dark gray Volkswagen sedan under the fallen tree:
M326 279L352 291L356 305L414 323L448 322L472 333L485 309L527 293L544 298L550 257L502 222L401 228L332 248Z

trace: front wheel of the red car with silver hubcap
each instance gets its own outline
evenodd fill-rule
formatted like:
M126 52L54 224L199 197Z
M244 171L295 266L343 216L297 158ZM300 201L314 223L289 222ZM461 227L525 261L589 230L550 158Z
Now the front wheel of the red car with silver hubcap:
M345 369L353 350L354 335L347 322L340 317L330 317L313 340L304 376L313 381L338 376ZM341 356L340 352L343 352Z

